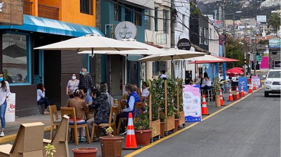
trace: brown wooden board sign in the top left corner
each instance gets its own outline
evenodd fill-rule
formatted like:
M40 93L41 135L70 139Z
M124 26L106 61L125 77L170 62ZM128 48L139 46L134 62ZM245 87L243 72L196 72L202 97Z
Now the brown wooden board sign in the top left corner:
M0 25L24 24L24 1L0 1Z

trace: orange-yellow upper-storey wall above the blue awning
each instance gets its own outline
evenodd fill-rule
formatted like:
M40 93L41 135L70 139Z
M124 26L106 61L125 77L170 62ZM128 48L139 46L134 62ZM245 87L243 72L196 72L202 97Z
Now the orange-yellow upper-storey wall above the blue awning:
M59 20L82 25L96 26L96 0L92 0L93 15L80 13L80 0L31 0L40 5L59 8ZM35 8L36 3L33 3ZM38 13L33 10L32 15L38 16Z

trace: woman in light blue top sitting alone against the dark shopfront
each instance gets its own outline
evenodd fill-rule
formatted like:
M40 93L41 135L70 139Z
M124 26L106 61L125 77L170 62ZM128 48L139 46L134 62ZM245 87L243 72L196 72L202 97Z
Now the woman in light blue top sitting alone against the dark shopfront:
M49 99L48 97L45 97L45 88L43 84L37 85L37 104L44 104L44 114L50 114L50 112L47 110L49 107Z

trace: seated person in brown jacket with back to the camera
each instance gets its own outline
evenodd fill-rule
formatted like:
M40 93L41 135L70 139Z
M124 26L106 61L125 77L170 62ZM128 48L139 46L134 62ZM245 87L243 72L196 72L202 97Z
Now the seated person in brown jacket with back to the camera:
M74 98L68 99L66 104L66 108L75 108L76 120L79 122L85 122L86 115L85 111L88 110L88 107L85 104L85 100L81 98L80 90L75 90ZM85 127L79 128L79 139L81 142L86 142L86 130ZM81 135L81 136L80 136Z

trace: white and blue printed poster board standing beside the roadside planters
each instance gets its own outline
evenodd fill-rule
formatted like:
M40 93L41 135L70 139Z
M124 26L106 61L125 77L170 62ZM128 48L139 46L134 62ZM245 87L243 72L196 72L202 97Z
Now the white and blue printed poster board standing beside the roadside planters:
M185 122L200 122L202 119L200 85L183 85L182 90Z

